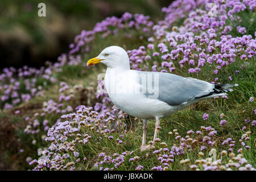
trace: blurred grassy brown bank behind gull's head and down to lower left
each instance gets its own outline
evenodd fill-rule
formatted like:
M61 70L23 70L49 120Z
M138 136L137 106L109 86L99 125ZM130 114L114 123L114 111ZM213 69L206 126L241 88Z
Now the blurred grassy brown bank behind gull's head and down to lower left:
M86 63L87 60L98 55L105 47L116 45L125 49L133 49L137 48L138 45L144 44L145 41L145 39L139 39L139 34L132 38L127 38L123 36L123 32L121 31L116 36L105 38L104 42L102 42L101 37L98 36L93 42L94 46L92 50L88 55L83 57L82 62ZM85 71L85 73L81 74L81 71ZM90 86L90 84L96 85L97 75L102 72L105 72L105 67L102 65L97 65L97 67L93 69L87 69L83 67L82 64L77 66L66 65L63 67L63 72L53 73L59 81L56 82L56 84L47 85L44 88L44 96L32 98L29 102L20 104L12 110L0 111L0 169L29 169L31 167L26 163L24 164L26 157L31 156L32 159L38 158L36 152L38 148L47 146L46 142L37 143L36 145L31 144L32 140L35 138L24 134L23 130L28 124L25 118L33 117L35 113L40 113L44 101L57 101L59 99L59 83L61 81L67 82L71 88L79 84L85 87ZM77 105L79 105L79 103ZM20 114L15 115L15 110L20 110ZM48 117L44 119L48 119L53 125L60 116L61 114L49 114ZM46 135L46 133L42 132L39 134L39 136L42 135ZM11 140L9 138L11 138ZM24 149L22 154L19 152L20 149Z

